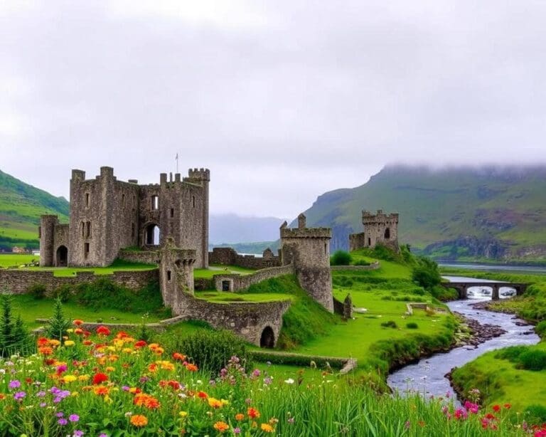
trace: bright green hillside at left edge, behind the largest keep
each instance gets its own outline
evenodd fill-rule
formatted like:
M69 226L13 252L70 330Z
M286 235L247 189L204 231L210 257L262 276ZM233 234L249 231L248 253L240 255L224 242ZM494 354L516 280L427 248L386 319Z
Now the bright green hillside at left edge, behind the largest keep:
M38 248L41 214L57 214L68 223L68 201L0 171L0 251Z

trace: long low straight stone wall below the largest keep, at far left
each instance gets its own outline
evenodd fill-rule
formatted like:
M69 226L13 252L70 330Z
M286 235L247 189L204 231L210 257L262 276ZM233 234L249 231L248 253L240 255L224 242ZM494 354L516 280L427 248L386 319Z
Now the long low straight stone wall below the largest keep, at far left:
M114 272L112 275L95 275L92 272L79 272L73 276L53 276L53 272L0 269L0 285L5 285L11 293L23 294L33 284L43 284L48 293L61 285L89 283L100 278L108 278L118 285L138 290L153 280L158 280L158 270L137 270Z

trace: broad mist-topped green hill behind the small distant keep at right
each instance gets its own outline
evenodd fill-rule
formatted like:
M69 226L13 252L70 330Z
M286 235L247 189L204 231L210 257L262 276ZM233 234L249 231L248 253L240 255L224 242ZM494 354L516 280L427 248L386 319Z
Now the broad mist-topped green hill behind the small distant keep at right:
M353 189L319 196L311 226L333 228L332 248L361 232L361 211L399 212L399 240L451 260L546 260L546 166L389 166Z

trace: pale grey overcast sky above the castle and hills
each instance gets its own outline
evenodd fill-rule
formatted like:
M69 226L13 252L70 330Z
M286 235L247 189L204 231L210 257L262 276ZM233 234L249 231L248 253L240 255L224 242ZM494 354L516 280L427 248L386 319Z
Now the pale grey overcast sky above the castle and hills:
M543 162L546 1L0 0L0 169L211 170L294 217L389 162Z

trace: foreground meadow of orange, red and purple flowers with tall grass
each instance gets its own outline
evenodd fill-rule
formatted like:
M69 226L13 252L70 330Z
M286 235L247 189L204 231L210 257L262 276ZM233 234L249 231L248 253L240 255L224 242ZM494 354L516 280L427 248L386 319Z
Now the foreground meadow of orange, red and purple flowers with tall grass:
M183 351L78 325L0 362L1 436L546 436L508 404L378 396L318 370L277 380L237 357L210 375Z

